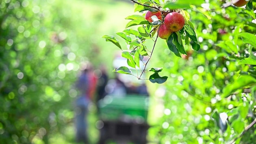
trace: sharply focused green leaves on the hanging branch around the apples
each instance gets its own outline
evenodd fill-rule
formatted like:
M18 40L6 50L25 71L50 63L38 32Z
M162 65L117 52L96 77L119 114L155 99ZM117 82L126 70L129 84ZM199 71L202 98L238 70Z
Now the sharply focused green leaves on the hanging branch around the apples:
M191 46L194 50L198 51L200 49L200 44L197 41L197 36L193 28L193 24L190 22L189 13L187 13L186 11L183 11L182 9L176 9L176 8L190 8L190 6L198 6L201 3L202 1L189 2L189 1L182 1L182 0L178 0L176 2L169 2L167 4L163 2L161 3L160 1L152 2L150 0L145 0L145 1L139 0L138 2L135 2L135 12L161 11L162 19L158 19L156 16L153 16L152 17L153 21L152 23L150 23L145 19L145 17L143 16L144 14L130 15L126 17L126 19L131 20L126 24L126 28L136 26L137 30L132 30L133 32L128 32L127 30L125 30L124 32L127 32L127 35L124 32L117 32L116 34L126 40L128 53L133 53L133 51L139 51L139 55L131 54L132 56L130 57L124 57L122 55L124 58L127 59L128 66L136 69L136 66L134 64L135 62L133 61L134 59L139 59L139 57L142 55L148 57L148 61L149 61L154 51L155 44L158 38L158 34L156 34L158 33L158 28L160 27L161 24L163 24L163 20L167 15L167 13L170 13L170 12L176 12L176 11L180 12L183 15L186 22L185 22L184 28L182 28L178 32L173 32L173 34L171 34L171 36L169 36L169 38L166 40L166 44L169 47L169 50L172 51L178 57L181 57L180 54L187 55L184 49L184 44L187 44ZM131 40L131 37L135 39ZM105 35L103 36L103 38L105 38L106 41L112 42L113 44L115 44L117 47L121 49L119 41L115 38L115 36ZM148 49L147 47L145 47L144 43L148 42L149 40L154 41L154 46L152 47L152 49ZM139 65L138 62L137 62L137 65ZM141 73L140 76L145 72L145 67L147 63L145 63L144 65L145 65L144 68L139 68L139 70L136 69L137 73L139 72ZM140 71L140 69L143 69L142 72ZM138 76L138 79L141 79L140 76ZM158 82L163 83L167 79L167 76L163 77L164 81L162 80L158 81L159 78L162 78L162 77L160 77L157 73L155 73L150 76L149 80L153 83L158 83Z

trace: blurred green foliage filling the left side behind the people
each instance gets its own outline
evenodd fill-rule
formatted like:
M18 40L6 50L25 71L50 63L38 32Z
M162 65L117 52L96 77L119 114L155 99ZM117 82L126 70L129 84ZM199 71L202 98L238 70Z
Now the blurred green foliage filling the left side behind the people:
M80 95L74 82L87 61L95 69L100 64L113 69L115 49L101 36L117 30L122 23L108 29L105 25L121 14L105 13L125 11L127 5L107 0L0 1L1 144L74 143L73 102ZM108 8L101 11L99 6ZM90 122L96 120L89 115ZM89 128L94 143L98 131L94 125Z

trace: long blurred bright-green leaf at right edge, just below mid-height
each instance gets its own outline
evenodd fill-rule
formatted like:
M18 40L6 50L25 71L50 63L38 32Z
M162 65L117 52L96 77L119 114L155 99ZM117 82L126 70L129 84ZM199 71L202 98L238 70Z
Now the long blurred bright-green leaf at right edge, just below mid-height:
M222 97L227 97L234 93L236 90L242 89L243 87L249 85L255 85L256 79L249 75L241 75L237 78L233 83L228 84L226 87L223 88Z

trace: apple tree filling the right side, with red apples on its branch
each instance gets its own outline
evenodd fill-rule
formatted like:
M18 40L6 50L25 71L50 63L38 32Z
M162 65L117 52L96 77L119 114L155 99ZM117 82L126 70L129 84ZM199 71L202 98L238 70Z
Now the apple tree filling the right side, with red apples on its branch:
M152 82L148 85L157 87L152 99L163 107L158 110L160 120L149 130L150 141L255 142L255 0L131 2L139 14L126 17L130 21L123 32L116 33L118 37L103 38L119 47L128 66L140 74L132 74L128 67L114 72L138 79L141 73L153 73L148 78ZM166 21L171 13L184 18L184 25L183 19L171 21L175 27L183 25L177 31ZM127 50L118 38L125 40Z

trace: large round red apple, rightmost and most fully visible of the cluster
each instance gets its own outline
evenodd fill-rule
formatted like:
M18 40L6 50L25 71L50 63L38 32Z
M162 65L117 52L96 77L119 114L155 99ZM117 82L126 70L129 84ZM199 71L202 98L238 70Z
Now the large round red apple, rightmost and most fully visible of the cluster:
M172 32L177 32L183 28L185 24L184 17L177 12L168 13L165 16L165 26Z

